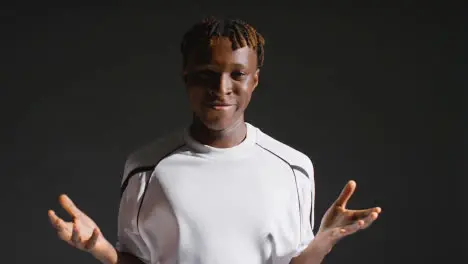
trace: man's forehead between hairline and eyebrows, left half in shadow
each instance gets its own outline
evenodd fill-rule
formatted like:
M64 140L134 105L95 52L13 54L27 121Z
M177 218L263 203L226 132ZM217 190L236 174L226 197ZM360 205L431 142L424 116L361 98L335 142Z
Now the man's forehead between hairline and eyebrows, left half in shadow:
M187 68L203 66L228 67L238 65L245 68L257 67L257 53L245 46L233 50L229 38L213 38L209 45L195 48L189 55Z

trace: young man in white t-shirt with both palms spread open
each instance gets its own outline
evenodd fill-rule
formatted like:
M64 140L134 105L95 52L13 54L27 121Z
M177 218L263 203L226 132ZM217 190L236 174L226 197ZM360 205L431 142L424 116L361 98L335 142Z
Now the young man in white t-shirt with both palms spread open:
M193 122L128 158L118 243L65 195L73 216L49 211L61 239L103 263L320 263L380 208L348 210L350 181L314 236L310 159L244 121L264 39L240 20L207 18L184 36L183 79Z

